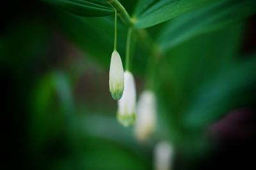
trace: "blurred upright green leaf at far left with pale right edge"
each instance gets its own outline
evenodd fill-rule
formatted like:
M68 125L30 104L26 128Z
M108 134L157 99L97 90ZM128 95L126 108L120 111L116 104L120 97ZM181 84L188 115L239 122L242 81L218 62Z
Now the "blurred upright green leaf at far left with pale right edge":
M74 112L67 76L60 71L45 75L32 96L31 142L36 149L60 134L65 119Z

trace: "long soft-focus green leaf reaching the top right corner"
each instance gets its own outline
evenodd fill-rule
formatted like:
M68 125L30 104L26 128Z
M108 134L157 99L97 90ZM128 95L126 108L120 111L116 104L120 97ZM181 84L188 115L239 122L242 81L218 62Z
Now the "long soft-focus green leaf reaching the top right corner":
M161 31L157 42L162 50L170 50L193 36L252 15L256 11L255 5L254 0L218 1L200 10L186 13L170 21Z

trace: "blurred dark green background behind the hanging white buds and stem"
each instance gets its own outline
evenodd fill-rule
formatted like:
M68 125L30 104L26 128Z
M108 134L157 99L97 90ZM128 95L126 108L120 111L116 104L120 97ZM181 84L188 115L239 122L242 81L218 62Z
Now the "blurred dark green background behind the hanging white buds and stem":
M134 31L137 95L154 81L157 103L154 134L138 141L109 93L113 11L87 17L54 1L1 3L3 169L154 169L161 141L172 169L255 169L255 2L212 1ZM131 14L137 4L120 2ZM118 19L123 64L126 36Z

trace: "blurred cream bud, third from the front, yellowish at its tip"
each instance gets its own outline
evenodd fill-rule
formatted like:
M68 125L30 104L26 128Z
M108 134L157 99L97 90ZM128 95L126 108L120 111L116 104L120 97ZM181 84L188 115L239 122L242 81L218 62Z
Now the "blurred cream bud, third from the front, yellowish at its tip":
M141 93L136 113L134 132L138 140L145 141L156 126L156 97L153 92Z

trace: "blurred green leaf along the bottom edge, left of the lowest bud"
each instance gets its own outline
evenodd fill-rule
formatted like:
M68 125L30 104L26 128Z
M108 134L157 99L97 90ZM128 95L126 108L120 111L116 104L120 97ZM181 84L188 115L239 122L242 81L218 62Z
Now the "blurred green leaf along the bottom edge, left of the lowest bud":
M49 169L150 169L147 155L137 155L122 144L102 138L85 138L79 154L52 161ZM147 158L147 159L145 159Z

